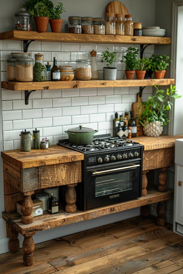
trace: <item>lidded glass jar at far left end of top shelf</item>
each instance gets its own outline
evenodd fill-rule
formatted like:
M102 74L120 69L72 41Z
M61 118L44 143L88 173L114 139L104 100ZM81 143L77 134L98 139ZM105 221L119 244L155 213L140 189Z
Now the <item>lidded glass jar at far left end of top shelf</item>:
M15 13L15 30L31 31L31 14L26 9Z

